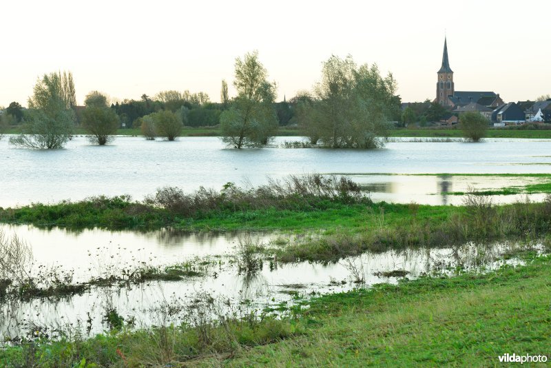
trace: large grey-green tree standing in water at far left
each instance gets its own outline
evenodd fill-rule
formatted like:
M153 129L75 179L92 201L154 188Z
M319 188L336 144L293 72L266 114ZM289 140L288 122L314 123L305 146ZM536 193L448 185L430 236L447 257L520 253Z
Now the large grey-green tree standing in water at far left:
M37 81L25 112L23 134L10 138L12 145L51 150L67 143L72 134L73 112L61 99L60 88L56 73L44 74Z

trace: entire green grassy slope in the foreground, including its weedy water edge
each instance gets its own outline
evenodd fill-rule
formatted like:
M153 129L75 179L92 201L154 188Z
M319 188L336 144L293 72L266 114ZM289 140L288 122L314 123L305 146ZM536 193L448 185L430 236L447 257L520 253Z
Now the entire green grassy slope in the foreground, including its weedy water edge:
M551 354L551 258L489 274L424 277L304 301L282 319L155 327L0 350L6 367L497 365Z

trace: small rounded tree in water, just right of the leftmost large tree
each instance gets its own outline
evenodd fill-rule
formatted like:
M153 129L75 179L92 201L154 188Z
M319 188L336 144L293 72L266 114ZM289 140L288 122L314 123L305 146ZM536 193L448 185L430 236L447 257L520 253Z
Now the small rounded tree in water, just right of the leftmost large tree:
M105 145L114 140L118 129L118 116L109 108L107 96L98 91L87 94L84 101L86 109L83 112L83 128L90 134L91 143Z

